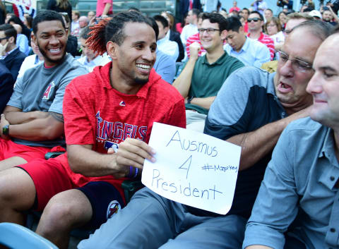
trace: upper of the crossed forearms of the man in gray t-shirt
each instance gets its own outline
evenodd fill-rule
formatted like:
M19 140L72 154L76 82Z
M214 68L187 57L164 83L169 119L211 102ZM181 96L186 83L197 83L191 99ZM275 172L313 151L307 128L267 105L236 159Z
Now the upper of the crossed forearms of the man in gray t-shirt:
M4 114L7 121L11 124L27 123L34 119L44 119L48 116L48 113L44 111L23 112L22 109L11 106L6 106Z

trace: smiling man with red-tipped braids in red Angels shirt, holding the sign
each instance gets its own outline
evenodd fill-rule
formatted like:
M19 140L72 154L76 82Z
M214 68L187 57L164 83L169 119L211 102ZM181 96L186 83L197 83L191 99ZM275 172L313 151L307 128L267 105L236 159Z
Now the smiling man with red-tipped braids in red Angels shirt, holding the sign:
M59 248L67 248L71 229L96 228L124 207L122 181L140 176L145 159L154 161L147 145L153 122L186 123L184 99L152 68L150 21L132 11L92 29L88 47L107 51L112 62L66 87L67 155L0 174L0 222L23 224L24 211L43 210L37 233Z

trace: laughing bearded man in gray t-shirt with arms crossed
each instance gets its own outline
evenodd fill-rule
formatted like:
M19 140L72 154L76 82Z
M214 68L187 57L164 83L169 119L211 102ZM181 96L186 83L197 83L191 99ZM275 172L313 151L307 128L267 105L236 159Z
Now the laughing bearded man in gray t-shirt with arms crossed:
M18 79L1 114L0 171L44 158L54 147L65 145L64 90L73 78L88 73L66 54L67 31L59 13L44 11L33 20L32 28L32 42L39 47L44 63Z

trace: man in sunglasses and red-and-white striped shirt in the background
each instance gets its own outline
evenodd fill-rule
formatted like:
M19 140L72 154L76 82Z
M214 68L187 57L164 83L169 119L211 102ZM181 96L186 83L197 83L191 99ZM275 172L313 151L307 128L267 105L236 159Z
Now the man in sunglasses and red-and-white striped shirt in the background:
M247 19L249 23L249 35L248 37L261 42L270 49L270 59L274 58L274 41L268 35L263 33L263 15L258 11L252 11L249 14L249 18Z

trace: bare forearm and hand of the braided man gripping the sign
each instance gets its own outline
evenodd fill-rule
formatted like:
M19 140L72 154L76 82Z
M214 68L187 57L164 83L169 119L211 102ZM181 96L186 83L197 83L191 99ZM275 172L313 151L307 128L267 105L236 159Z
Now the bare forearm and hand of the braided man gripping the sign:
M84 176L107 176L117 178L129 173L129 166L143 168L145 159L154 162L154 150L141 140L127 138L119 144L117 153L100 154L92 145L67 145L71 169Z

